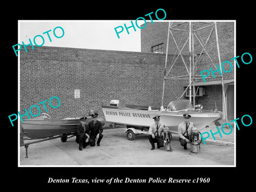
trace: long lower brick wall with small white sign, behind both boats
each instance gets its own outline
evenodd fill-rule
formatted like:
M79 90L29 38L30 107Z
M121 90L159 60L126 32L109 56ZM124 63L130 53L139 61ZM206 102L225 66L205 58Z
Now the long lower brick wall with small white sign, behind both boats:
M21 114L46 99L47 114L53 118L83 116L90 109L103 116L101 105L109 105L112 99L119 99L120 106L161 106L163 54L48 46L27 49L20 51ZM180 85L177 81L171 85L173 91L166 90L164 105L176 99L173 92L180 95ZM80 90L79 99L74 98L75 89ZM53 96L61 101L55 109L49 105ZM57 106L58 101L53 99L52 105ZM41 113L46 113L42 104L39 107ZM36 107L31 111L38 113Z

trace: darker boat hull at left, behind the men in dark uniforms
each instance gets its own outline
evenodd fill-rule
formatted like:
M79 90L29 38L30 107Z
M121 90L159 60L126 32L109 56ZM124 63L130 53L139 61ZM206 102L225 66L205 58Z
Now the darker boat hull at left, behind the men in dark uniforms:
M86 119L86 124L92 121L92 118ZM105 124L104 118L98 118L98 121ZM79 118L69 119L24 119L21 123L25 136L30 139L43 139L53 137L54 135L75 133Z

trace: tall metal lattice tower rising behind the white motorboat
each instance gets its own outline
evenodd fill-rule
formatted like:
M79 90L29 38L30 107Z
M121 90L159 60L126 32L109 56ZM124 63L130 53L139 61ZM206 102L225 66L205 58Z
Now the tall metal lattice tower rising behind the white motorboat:
M198 26L198 24L201 24ZM203 41L202 36L199 34L199 31L205 30L209 32L207 35L206 41ZM163 94L162 94L162 106L163 106L163 100L164 100L164 90L165 90L165 83L167 83L168 79L188 79L189 85L187 86L186 90L183 92L183 94L189 89L189 101L191 102L191 89L193 84L193 103L195 108L195 80L196 79L202 79L201 75L195 74L195 69L197 66L199 66L199 63L202 62L203 55L207 55L207 57L210 59L210 63L217 69L215 62L217 59L213 59L212 55L210 54L210 51L208 50L208 45L211 42L210 39L212 37L213 32L215 31L215 41L216 41L216 47L218 52L218 62L219 62L219 68L222 74L221 69L221 59L220 59L220 50L219 50L219 40L218 40L218 31L217 31L217 22L169 22L168 27L168 35L167 35L167 45L166 45L166 57L165 57L165 68L164 68L164 80L163 80ZM177 38L177 34L178 37ZM205 37L205 36L204 36ZM169 49L169 41L172 39L172 48L175 50L173 59L169 65L169 68L167 68L167 57L168 57L168 49ZM198 45L201 45L201 52L199 54L195 54L195 39L198 42ZM187 46L188 47L187 47ZM200 47L200 46L199 46ZM198 46L196 47L197 50ZM181 58L182 63L185 66L185 71L187 71L186 75L180 75L180 76L171 76L170 72L172 71L173 66L177 63L178 58ZM189 61L186 60L186 58L189 57ZM224 108L225 108L225 115L227 118L227 107L226 107L226 100L225 100L225 89L224 89L224 83L223 83L223 76L217 76L215 77L221 77L221 84L222 84L222 94L223 94L223 102L224 102ZM214 78L212 75L208 76L206 78ZM183 96L181 95L181 97ZM180 97L180 98L181 98ZM180 99L179 98L179 99Z

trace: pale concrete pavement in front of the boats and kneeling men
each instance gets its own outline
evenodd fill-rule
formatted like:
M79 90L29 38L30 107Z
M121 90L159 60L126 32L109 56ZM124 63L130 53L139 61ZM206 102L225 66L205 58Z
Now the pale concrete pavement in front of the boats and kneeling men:
M215 126L207 128L214 130ZM126 138L125 128L103 131L101 146L87 146L78 150L75 137L67 142L60 139L34 143L28 147L28 158L25 147L20 147L20 166L234 166L235 145L234 130L225 137L218 138L223 142L212 142L212 138L201 143L201 152L190 153L190 146L184 150L180 146L177 134L173 134L172 152L164 148L150 150L146 134L137 135L135 140ZM201 130L201 133L205 130ZM210 131L209 131L210 132ZM215 131L216 132L216 131ZM228 132L228 131L226 131ZM228 141L228 143L225 143ZM26 143L26 141L25 141Z

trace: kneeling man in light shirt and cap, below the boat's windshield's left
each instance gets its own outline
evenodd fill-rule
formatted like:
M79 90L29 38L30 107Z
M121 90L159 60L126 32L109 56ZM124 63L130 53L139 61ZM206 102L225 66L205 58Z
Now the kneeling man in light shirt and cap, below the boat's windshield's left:
M149 127L148 139L151 144L151 150L155 149L155 143L157 143L157 148L164 147L164 142L160 139L161 131L164 129L164 125L160 123L160 116L153 117L155 123Z

